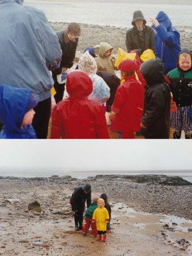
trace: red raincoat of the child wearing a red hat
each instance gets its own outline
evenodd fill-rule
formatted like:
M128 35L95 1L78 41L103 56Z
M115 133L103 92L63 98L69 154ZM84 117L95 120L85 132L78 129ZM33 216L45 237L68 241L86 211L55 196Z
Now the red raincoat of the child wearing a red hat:
M116 113L111 130L122 131L123 138L126 138L127 131L139 131L144 101L142 83L135 75L125 79L118 87L111 106L111 110Z

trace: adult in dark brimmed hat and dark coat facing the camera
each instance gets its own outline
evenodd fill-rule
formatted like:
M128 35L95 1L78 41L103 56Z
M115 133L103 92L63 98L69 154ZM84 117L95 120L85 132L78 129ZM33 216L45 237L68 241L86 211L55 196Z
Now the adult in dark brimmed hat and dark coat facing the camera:
M133 27L127 30L126 33L126 47L127 53L135 50L140 56L143 51L155 49L155 33L154 30L146 25L146 20L141 11L134 11Z

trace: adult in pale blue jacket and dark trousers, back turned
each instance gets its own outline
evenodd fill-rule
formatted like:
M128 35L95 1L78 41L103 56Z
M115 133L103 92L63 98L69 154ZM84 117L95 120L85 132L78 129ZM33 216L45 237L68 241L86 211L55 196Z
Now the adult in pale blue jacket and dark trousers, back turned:
M0 0L0 84L30 89L38 102L33 126L37 138L46 138L53 78L62 51L45 14L23 0Z

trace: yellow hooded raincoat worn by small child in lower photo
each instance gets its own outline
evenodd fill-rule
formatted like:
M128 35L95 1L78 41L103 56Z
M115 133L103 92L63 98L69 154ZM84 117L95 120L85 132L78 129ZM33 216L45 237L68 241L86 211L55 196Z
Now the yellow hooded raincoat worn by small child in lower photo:
M105 202L102 198L99 198L98 202L103 202L103 207L98 207L94 210L93 213L93 221L96 221L96 226L98 231L106 231L107 230L107 221L109 221L109 213L107 209L104 207ZM98 204L98 203L97 203Z

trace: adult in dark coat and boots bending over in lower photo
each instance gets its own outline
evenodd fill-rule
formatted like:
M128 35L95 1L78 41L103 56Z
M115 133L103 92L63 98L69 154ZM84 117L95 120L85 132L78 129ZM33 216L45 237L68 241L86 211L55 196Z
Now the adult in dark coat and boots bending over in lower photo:
M82 229L83 213L85 210L85 202L87 208L91 204L91 185L77 187L71 195L71 210L74 211L75 230Z

